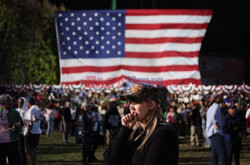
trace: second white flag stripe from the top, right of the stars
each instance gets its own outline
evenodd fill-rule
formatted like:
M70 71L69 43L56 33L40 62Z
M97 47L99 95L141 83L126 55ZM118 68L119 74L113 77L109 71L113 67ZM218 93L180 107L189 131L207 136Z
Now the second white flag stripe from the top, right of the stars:
M206 33L205 29L160 29L160 30L126 30L126 38L159 38L159 37L203 37Z

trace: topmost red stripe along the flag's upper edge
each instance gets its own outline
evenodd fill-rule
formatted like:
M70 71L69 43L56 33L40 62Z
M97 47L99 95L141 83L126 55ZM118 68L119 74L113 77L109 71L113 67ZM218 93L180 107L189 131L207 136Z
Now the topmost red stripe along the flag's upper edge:
M138 15L205 15L209 16L213 14L213 10L175 10L175 9L169 9L169 10L159 10L159 9L145 9L145 10L138 10L138 9L129 9L126 10L126 16L138 16Z

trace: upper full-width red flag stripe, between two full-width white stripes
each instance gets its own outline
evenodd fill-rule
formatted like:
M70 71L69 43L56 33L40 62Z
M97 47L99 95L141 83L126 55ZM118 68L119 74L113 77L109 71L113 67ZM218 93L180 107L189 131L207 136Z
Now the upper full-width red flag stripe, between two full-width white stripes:
M84 72L113 72L117 70L128 70L135 72L168 72L168 71L193 71L199 70L198 65L172 65L172 66L159 66L159 67L147 67L147 66L108 66L108 67L94 67L94 66L80 66L80 67L67 67L62 68L63 74L71 73L84 73Z

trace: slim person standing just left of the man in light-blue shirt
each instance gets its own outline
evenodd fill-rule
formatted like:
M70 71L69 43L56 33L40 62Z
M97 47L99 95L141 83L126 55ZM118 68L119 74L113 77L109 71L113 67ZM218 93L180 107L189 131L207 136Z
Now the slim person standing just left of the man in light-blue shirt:
M204 138L204 147L205 148L210 148L211 142L210 139L207 137L206 133L206 119L207 119L207 110L209 107L209 102L208 100L204 100L203 104L200 109L200 115L201 115L201 128L202 128L202 135Z

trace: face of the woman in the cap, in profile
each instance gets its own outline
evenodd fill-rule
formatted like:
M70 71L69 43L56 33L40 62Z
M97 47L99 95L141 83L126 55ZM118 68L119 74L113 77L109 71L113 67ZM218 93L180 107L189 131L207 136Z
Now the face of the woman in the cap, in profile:
M137 114L139 122L143 122L151 108L148 102L143 101L142 103L130 102L129 109L131 113L135 112Z

